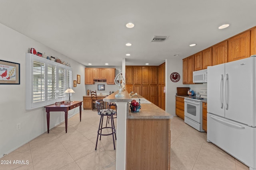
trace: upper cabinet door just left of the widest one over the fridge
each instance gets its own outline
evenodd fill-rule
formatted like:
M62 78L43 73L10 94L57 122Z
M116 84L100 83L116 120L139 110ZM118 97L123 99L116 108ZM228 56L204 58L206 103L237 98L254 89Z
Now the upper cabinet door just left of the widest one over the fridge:
M212 65L228 62L228 41L212 46Z

